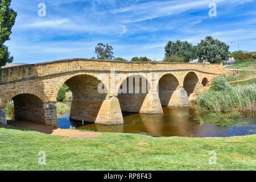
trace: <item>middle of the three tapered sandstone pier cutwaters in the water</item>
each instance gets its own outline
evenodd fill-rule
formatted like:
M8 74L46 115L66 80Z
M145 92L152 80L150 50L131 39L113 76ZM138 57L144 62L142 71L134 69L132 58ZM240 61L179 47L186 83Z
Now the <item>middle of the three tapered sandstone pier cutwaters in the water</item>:
M156 91L150 91L145 97L139 113L156 114L163 113L159 94Z

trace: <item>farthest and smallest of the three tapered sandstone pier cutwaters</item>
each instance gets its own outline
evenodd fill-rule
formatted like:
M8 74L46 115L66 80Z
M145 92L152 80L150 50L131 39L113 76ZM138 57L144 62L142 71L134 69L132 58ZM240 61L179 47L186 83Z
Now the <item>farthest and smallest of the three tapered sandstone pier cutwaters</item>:
M168 103L168 106L190 106L187 91L181 86L177 88Z

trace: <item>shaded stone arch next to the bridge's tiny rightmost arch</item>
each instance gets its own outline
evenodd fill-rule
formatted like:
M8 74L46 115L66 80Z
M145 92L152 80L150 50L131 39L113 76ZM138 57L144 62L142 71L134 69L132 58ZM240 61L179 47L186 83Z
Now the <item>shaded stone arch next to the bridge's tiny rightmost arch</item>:
M197 84L199 83L199 77L195 72L189 72L184 77L183 88L187 91L188 97L197 89Z

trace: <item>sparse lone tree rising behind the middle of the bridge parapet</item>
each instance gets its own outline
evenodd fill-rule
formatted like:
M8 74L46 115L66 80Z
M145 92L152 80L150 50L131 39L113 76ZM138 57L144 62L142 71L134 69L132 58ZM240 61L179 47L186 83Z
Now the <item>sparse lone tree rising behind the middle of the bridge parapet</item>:
M97 59L102 60L113 60L114 52L113 47L108 44L98 43L97 47L95 47L95 53L97 55Z

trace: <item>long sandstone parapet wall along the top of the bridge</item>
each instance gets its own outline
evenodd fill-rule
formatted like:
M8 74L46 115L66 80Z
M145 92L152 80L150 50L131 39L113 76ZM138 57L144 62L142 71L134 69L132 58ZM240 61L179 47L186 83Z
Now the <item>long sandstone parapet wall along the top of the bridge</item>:
M158 63L158 62L125 62L89 59L68 59L50 61L46 63L19 65L3 68L2 81L11 82L26 78L56 75L65 72L79 71L108 72L162 72L162 71L199 71L220 75L222 64L195 64L195 63Z

